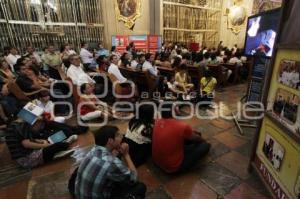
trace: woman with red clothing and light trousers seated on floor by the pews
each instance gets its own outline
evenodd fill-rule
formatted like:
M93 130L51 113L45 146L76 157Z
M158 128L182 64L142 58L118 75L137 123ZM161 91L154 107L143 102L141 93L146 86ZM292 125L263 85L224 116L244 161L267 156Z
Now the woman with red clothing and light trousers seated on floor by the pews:
M113 116L112 108L109 106L104 107L94 94L94 87L91 84L84 83L80 86L81 96L80 103L85 103L80 108L80 119L83 121L90 121L97 118Z

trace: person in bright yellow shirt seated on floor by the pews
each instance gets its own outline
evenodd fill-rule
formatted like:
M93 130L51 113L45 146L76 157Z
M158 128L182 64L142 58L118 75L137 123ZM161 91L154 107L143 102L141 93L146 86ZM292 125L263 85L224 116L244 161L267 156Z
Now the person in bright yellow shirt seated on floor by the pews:
M198 101L207 102L207 105L214 98L215 88L217 86L217 79L212 76L211 70L204 71L204 77L200 80L200 93Z

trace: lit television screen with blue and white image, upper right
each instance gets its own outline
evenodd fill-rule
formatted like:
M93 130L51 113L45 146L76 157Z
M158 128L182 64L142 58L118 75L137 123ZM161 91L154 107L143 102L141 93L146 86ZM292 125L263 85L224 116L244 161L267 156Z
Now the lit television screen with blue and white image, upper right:
M248 18L245 54L271 57L280 22L280 9Z

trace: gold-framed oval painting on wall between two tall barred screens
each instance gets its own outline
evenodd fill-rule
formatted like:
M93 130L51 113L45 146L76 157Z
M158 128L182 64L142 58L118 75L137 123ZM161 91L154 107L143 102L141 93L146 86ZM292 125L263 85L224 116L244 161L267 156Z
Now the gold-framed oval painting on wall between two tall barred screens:
M125 26L132 29L135 20L141 16L141 0L114 0L116 17Z

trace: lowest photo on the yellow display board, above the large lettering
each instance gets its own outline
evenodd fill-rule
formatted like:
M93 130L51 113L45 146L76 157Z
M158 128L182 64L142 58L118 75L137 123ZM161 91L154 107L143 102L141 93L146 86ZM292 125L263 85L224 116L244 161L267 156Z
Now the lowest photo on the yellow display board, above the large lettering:
M267 133L262 151L273 167L279 171L284 156L282 145Z

